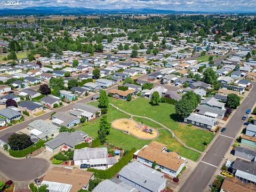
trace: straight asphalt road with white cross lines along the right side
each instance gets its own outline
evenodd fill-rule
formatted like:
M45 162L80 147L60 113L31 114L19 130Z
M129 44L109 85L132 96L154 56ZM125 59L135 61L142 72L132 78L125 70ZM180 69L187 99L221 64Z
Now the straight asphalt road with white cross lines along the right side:
M244 123L242 116L245 114L245 111L247 109L251 109L255 103L256 83L253 82L252 85L253 89L228 122L226 126L227 130L217 136L218 138L213 142L207 153L198 163L196 169L180 188L180 192L205 191L205 188L214 175L214 172L220 165L223 156L225 156L229 147L236 138L236 135L241 130L241 126Z

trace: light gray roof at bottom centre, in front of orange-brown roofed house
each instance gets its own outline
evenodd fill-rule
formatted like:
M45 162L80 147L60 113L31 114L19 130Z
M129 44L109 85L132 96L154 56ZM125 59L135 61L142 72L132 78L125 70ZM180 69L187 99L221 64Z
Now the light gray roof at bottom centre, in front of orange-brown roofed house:
M161 172L137 161L124 166L118 174L150 191L158 191L166 182L166 179L161 177Z

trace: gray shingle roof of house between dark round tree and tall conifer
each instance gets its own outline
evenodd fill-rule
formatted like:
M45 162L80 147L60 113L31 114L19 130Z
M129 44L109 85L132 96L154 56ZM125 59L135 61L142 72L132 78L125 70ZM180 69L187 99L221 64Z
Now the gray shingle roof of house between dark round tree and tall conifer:
M75 132L61 132L54 139L45 143L45 145L50 146L52 149L55 149L63 144L66 144L70 147L74 147L79 141L85 141L86 133L83 131Z

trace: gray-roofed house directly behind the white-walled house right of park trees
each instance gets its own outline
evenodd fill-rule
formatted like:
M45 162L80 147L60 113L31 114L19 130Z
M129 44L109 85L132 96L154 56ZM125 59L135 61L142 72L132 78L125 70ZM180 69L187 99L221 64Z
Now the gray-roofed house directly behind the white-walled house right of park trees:
M223 119L226 111L219 109L217 107L209 107L207 105L199 105L196 107L196 112L200 115L204 115L207 117Z

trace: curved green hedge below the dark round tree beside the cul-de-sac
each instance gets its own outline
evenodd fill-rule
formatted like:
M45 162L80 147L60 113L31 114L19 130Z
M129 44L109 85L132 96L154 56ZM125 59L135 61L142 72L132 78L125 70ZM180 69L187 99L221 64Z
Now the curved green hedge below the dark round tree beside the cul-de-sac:
M31 146L27 147L26 149L22 149L22 150L9 149L9 154L13 157L25 157L26 155L32 153L33 151L43 147L44 143L45 143L45 141L39 140L34 145L31 145Z

